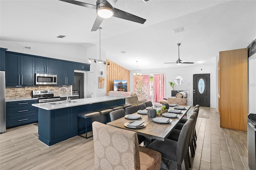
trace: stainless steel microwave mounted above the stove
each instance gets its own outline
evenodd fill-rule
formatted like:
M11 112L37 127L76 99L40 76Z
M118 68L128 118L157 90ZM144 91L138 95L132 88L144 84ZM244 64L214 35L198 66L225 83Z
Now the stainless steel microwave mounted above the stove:
M57 85L57 75L36 73L36 85Z

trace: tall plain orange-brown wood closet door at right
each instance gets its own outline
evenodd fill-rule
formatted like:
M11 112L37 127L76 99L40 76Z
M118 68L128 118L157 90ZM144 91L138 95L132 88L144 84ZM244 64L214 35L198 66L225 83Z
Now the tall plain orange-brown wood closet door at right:
M247 131L247 48L220 51L220 127Z

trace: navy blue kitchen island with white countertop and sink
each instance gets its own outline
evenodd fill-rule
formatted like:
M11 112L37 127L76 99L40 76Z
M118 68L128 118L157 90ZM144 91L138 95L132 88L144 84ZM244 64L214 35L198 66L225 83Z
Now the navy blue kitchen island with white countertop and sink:
M32 104L38 107L38 139L50 146L77 136L78 113L124 104L127 97L129 96L103 96L74 99L68 104L65 103L66 101ZM106 124L110 122L110 118L108 114L105 114L92 119L80 120L79 129L85 129L85 121L88 121L87 125L91 125L92 121ZM88 127L88 131L91 130L91 126ZM85 130L79 133L85 133Z

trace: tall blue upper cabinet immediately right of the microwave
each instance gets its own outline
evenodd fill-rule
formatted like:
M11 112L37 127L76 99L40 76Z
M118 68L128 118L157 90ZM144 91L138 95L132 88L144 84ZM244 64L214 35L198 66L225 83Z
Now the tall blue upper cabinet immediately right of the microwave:
M74 63L57 61L57 85L74 84Z

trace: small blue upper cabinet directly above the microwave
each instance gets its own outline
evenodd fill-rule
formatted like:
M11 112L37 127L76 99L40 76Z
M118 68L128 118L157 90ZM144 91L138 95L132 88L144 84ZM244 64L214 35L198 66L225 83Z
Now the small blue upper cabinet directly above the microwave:
M56 74L56 60L36 57L35 72L41 74Z

